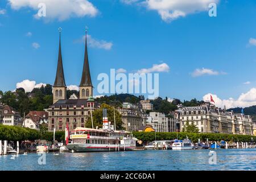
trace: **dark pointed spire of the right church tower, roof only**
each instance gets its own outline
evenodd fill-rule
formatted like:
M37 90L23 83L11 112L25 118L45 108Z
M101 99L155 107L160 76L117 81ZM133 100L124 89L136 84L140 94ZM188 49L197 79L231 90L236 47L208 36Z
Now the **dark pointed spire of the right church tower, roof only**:
M92 86L92 80L90 78L88 52L87 52L87 27L85 29L84 67L82 68L82 78L79 86Z

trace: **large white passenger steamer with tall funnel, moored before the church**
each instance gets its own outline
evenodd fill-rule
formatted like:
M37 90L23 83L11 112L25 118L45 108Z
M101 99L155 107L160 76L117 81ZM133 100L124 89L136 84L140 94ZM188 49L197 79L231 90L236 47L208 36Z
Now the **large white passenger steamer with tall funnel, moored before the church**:
M102 129L77 127L71 131L70 138L72 143L68 143L67 147L75 152L133 150L138 140L128 131L114 130L114 126L108 122L106 109L103 109Z

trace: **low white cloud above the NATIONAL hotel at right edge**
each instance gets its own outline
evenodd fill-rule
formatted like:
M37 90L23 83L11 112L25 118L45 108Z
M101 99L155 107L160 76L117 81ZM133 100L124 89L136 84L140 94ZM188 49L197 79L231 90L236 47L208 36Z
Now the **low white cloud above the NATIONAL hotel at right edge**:
M228 100L221 100L221 98L218 98L216 94L211 93L206 94L203 97L203 100L209 101L210 95L212 95L216 106L222 108L224 108L224 106L229 109L232 107L249 107L256 105L256 88L251 88L247 93L242 93L237 100L235 100L234 98L228 98Z

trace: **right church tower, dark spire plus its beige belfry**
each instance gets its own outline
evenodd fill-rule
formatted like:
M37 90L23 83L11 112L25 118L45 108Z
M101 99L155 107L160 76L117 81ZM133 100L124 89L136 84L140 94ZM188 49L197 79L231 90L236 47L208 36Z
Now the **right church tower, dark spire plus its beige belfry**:
M93 96L93 85L90 78L90 68L87 52L87 30L85 31L85 53L84 53L84 67L82 68L82 78L79 85L80 99L88 99Z

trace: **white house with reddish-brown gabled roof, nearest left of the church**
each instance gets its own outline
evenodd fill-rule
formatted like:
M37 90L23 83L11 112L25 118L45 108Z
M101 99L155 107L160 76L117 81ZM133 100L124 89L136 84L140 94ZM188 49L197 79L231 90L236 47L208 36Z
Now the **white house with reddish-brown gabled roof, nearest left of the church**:
M48 112L46 111L30 111L24 119L23 126L30 129L39 130L42 123L48 123Z

